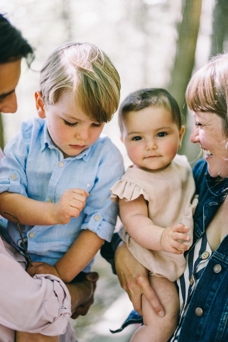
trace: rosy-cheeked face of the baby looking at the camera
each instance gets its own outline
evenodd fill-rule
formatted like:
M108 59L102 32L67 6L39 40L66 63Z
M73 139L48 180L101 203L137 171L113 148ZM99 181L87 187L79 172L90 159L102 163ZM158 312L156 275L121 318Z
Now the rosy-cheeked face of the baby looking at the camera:
M135 165L159 170L175 157L184 131L184 126L178 129L169 111L151 106L127 114L122 139Z

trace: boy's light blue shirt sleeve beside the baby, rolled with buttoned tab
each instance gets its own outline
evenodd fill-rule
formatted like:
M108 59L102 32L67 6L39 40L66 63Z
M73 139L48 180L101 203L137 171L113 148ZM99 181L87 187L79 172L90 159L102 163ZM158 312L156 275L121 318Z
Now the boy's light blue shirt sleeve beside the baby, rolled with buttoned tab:
M113 144L103 151L96 181L86 199L83 212L86 214L81 229L90 229L100 238L111 241L119 206L110 199L110 188L124 173L123 158Z

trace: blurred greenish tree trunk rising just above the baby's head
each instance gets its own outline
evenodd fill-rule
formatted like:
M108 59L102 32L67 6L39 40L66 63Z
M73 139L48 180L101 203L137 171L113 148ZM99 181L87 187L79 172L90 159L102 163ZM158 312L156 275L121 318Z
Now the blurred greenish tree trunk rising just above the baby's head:
M196 42L200 25L202 0L183 1L183 19L179 25L177 40L176 57L174 68L171 73L171 82L168 87L170 93L177 100L180 110L187 114L185 105L185 91L191 78L192 69L195 61Z

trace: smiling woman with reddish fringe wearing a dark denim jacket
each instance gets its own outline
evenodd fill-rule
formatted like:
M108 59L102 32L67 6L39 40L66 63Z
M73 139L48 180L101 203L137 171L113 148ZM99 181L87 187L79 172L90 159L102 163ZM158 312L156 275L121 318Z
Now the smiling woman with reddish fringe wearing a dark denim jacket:
M193 244L184 254L185 271L177 280L180 300L178 325L169 341L227 342L227 53L216 56L192 76L186 90L186 101L195 118L190 140L200 144L205 159L199 160L193 168L199 204L193 216ZM141 297L145 294L158 313L162 308L155 292L149 289L147 269L132 257L126 244L119 245L117 238L104 246L103 255L112 261L115 250L116 271L135 310L142 314Z

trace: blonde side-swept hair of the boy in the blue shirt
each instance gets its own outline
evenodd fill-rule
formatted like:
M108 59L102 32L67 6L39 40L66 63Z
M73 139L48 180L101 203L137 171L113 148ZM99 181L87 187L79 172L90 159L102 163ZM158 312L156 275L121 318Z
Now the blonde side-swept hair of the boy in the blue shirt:
M53 105L65 91L95 122L108 122L118 108L120 77L109 57L90 43L67 43L44 61L40 91L45 105Z

